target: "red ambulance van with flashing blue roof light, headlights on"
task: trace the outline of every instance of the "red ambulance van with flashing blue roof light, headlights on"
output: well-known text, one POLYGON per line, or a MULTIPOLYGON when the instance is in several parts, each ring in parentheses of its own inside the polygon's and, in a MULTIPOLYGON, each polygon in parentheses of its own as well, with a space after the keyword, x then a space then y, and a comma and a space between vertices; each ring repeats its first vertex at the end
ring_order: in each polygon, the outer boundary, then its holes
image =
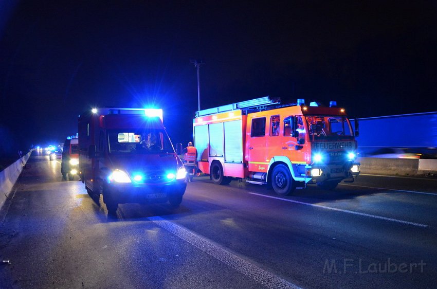
POLYGON ((109 213, 121 203, 178 206, 186 170, 162 124, 162 110, 93 109, 79 116, 79 170, 109 213))

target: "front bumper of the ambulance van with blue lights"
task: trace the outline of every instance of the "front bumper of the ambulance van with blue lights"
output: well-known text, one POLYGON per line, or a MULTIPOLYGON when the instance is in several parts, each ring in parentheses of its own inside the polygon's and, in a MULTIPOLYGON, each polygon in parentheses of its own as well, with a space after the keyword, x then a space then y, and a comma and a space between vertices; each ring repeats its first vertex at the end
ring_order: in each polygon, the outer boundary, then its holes
MULTIPOLYGON (((169 196, 182 196, 187 188, 185 179, 174 180, 166 184, 111 184, 106 194, 119 204, 124 203, 165 203, 169 196)), ((105 195, 105 191, 103 192, 105 195)))

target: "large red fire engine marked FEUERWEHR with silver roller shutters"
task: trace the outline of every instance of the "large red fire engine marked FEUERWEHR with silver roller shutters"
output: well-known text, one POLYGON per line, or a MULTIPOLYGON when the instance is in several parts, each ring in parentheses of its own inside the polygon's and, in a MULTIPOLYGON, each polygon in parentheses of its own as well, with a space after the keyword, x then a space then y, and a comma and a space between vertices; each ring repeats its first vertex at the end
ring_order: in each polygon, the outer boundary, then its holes
POLYGON ((358 125, 354 133, 345 110, 335 106, 263 97, 198 111, 198 167, 216 184, 246 179, 280 195, 307 184, 334 189, 341 180, 353 182, 360 171, 358 125))

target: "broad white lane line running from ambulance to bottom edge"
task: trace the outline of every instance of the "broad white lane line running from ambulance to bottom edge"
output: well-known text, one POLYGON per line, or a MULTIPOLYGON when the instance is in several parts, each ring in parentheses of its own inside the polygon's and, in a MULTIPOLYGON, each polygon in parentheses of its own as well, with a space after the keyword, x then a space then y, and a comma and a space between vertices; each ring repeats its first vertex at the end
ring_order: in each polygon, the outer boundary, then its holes
POLYGON ((215 259, 225 263, 234 270, 252 278, 258 283, 266 286, 267 288, 293 288, 299 289, 299 287, 293 283, 290 283, 282 278, 279 278, 260 267, 253 265, 250 262, 243 260, 242 258, 235 256, 231 252, 212 244, 210 241, 197 236, 197 234, 190 230, 173 224, 160 216, 152 216, 148 218, 153 223, 166 229, 167 231, 175 234, 180 239, 183 239, 191 245, 201 249, 207 254, 211 255, 215 259))

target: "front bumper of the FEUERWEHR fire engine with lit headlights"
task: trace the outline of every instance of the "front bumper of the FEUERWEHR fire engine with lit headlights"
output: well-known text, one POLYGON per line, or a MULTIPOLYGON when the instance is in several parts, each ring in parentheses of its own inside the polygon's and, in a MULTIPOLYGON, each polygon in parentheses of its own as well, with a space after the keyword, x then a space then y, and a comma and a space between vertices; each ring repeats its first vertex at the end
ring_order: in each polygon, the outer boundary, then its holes
POLYGON ((320 183, 325 180, 354 179, 360 173, 359 162, 348 162, 345 165, 315 165, 307 169, 306 174, 311 175, 310 183, 320 183))

